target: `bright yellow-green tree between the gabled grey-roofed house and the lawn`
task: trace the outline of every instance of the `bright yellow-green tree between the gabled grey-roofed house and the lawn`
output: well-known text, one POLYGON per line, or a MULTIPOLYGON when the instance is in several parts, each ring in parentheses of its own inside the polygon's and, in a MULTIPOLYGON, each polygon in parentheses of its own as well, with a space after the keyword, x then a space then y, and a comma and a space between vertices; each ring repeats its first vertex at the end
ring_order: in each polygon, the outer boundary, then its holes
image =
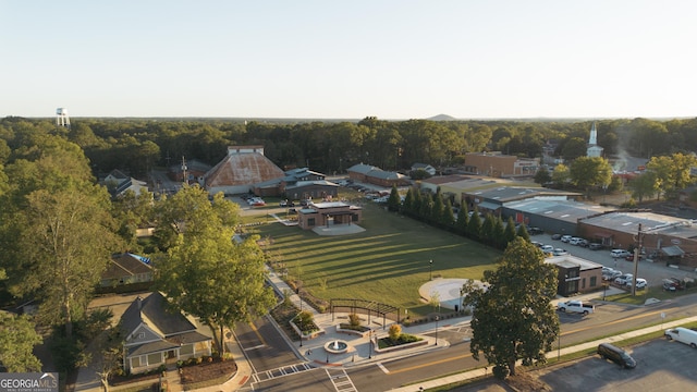
POLYGON ((235 207, 221 194, 211 204, 204 189, 185 186, 159 208, 161 224, 178 229, 167 256, 156 261, 158 286, 178 309, 219 326, 221 340, 224 327, 273 304, 258 236, 233 242, 235 207))

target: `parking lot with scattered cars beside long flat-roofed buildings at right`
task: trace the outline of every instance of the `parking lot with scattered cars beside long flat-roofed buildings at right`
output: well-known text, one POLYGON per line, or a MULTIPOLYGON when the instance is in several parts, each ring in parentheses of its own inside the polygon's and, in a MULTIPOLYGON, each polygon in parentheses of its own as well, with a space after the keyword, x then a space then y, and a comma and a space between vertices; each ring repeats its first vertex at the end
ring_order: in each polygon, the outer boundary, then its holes
MULTIPOLYGON (((586 260, 590 260, 597 264, 600 264, 606 267, 614 268, 622 272, 633 273, 634 271, 634 262, 627 261, 624 258, 613 258, 610 254, 610 249, 598 249, 592 250, 587 247, 570 245, 568 243, 563 243, 560 240, 552 240, 550 234, 538 234, 530 235, 530 241, 537 241, 541 244, 548 244, 553 246, 554 248, 562 248, 568 252, 573 256, 577 256, 584 258, 586 260)), ((685 271, 675 268, 667 267, 663 262, 650 262, 647 260, 640 260, 638 266, 638 278, 644 278, 648 281, 648 294, 651 291, 660 291, 662 290, 662 281, 668 278, 692 278, 695 279, 697 275, 694 271, 685 271)), ((639 290, 639 292, 645 292, 644 290, 639 290)))

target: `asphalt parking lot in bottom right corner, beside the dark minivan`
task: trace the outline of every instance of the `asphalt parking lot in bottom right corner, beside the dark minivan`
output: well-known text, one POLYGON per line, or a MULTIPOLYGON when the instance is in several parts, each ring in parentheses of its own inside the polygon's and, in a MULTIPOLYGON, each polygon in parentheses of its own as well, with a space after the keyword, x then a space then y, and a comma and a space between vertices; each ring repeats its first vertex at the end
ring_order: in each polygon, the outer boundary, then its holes
POLYGON ((697 388, 697 350, 657 339, 624 347, 637 362, 634 369, 598 355, 536 371, 553 391, 692 391, 697 388))

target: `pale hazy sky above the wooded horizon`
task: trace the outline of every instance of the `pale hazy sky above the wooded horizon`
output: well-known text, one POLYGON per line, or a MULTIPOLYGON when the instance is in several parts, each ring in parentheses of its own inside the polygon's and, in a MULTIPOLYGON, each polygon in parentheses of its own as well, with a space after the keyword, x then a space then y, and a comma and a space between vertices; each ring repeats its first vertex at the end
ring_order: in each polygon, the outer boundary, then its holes
POLYGON ((695 117, 696 17, 694 0, 0 0, 0 117, 695 117))

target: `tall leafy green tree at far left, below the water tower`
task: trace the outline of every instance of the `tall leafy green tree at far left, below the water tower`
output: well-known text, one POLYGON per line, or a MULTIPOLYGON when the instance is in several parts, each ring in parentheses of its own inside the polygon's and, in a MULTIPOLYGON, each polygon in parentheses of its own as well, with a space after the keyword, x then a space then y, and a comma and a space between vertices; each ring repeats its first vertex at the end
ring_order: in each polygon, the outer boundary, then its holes
POLYGON ((71 336, 73 320, 83 316, 120 245, 109 195, 94 184, 80 147, 50 135, 33 142, 19 149, 23 159, 8 166, 0 261, 10 291, 37 297, 38 320, 62 324, 71 336))

